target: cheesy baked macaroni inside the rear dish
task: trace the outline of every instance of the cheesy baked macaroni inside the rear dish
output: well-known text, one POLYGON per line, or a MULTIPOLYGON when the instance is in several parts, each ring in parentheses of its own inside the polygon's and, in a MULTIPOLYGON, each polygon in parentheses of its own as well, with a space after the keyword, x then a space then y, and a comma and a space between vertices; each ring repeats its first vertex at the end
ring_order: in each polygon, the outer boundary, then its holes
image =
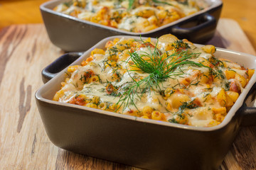
POLYGON ((144 33, 207 7, 203 0, 73 0, 53 10, 104 26, 144 33))

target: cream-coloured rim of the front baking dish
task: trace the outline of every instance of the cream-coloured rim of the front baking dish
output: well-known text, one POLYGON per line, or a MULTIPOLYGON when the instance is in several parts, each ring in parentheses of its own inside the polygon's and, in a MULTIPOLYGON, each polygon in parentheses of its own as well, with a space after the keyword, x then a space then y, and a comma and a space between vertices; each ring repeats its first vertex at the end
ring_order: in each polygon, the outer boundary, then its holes
MULTIPOLYGON (((114 38, 136 38, 136 39, 138 39, 139 37, 129 36, 129 35, 116 35, 116 36, 110 36, 108 38, 104 38, 104 39, 100 40, 100 42, 97 42, 96 45, 93 45, 89 50, 85 51, 83 53, 83 55, 81 55, 77 60, 75 60, 70 65, 80 64, 80 62, 82 62, 81 60, 85 60, 86 57, 90 57, 90 52, 95 47, 105 45, 105 43, 108 40, 114 40, 114 38)), ((145 40, 147 37, 141 37, 141 38, 143 40, 145 40)), ((151 40, 156 40, 156 38, 151 38, 151 40)), ((203 46, 203 45, 199 45, 199 44, 196 44, 196 43, 194 45, 196 45, 197 47, 203 46)), ((228 54, 231 54, 231 55, 234 55, 234 56, 247 57, 247 59, 250 59, 250 61, 253 60, 253 62, 255 64, 255 67, 251 68, 251 69, 256 69, 256 56, 254 56, 254 55, 246 54, 244 52, 237 52, 237 51, 234 51, 234 50, 227 50, 227 49, 220 48, 220 47, 216 47, 216 52, 220 52, 220 54, 228 53, 228 54)), ((235 57, 231 57, 231 58, 235 59, 235 57)), ((243 59, 241 59, 241 60, 243 60, 243 59)), ((256 82, 256 72, 255 72, 255 74, 252 75, 248 84, 245 86, 245 89, 243 89, 242 93, 238 97, 238 100, 235 101, 235 104, 232 106, 230 111, 228 111, 228 113, 225 116, 225 119, 223 120, 222 123, 220 123, 219 125, 215 125, 213 127, 196 127, 196 126, 192 126, 192 125, 181 125, 181 124, 177 124, 177 123, 169 123, 169 122, 164 122, 164 121, 161 121, 161 120, 151 120, 151 119, 138 118, 138 117, 132 116, 132 115, 123 115, 123 114, 114 113, 114 112, 110 112, 110 111, 102 111, 102 110, 97 109, 97 108, 89 108, 89 107, 86 107, 86 106, 79 106, 79 105, 74 105, 74 104, 71 104, 71 103, 62 103, 62 102, 59 102, 59 101, 52 101, 50 99, 43 98, 43 95, 42 95, 43 91, 44 91, 44 89, 47 90, 48 87, 51 87, 50 84, 54 84, 54 86, 59 86, 59 84, 56 84, 57 82, 55 82, 55 81, 57 81, 57 80, 55 80, 55 79, 60 79, 60 77, 63 77, 63 75, 65 74, 66 69, 68 67, 65 67, 65 69, 63 69, 61 72, 59 72, 55 77, 53 77, 53 79, 50 79, 50 81, 48 81, 46 84, 43 84, 43 86, 41 86, 36 91, 35 97, 38 101, 43 101, 45 103, 54 104, 54 105, 58 105, 58 106, 65 106, 65 107, 69 107, 69 108, 78 108, 78 109, 82 109, 84 111, 92 111, 92 112, 95 112, 95 113, 102 113, 102 114, 105 114, 105 115, 115 116, 117 118, 125 118, 125 119, 129 119, 129 120, 135 120, 135 121, 139 121, 139 122, 142 122, 142 123, 151 123, 151 124, 156 124, 156 125, 164 125, 164 126, 168 126, 168 127, 171 127, 171 128, 181 128, 181 129, 185 129, 185 130, 196 130, 196 131, 219 130, 219 129, 225 127, 225 125, 228 125, 228 123, 230 123, 230 120, 233 118, 233 116, 235 116, 235 113, 237 113, 237 111, 242 106, 242 104, 245 103, 245 98, 246 98, 247 94, 249 93, 250 89, 252 89, 252 86, 256 82)))

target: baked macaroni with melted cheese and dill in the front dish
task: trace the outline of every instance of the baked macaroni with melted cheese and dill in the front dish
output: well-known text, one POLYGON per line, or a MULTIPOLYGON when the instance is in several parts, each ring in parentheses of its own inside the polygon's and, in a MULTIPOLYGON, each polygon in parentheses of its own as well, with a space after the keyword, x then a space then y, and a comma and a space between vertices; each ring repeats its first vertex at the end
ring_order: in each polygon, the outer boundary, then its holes
POLYGON ((200 127, 218 125, 254 74, 254 69, 214 56, 174 35, 115 38, 92 50, 53 97, 140 118, 200 127))

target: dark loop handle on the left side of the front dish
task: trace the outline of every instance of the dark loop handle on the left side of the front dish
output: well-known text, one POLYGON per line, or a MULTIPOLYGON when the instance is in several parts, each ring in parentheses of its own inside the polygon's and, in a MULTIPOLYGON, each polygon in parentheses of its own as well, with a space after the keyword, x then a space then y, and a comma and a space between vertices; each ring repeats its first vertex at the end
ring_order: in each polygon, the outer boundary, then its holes
POLYGON ((60 71, 68 67, 71 63, 75 62, 83 52, 68 52, 65 55, 58 57, 55 61, 50 63, 41 72, 43 83, 46 84, 50 79, 55 77, 60 71))

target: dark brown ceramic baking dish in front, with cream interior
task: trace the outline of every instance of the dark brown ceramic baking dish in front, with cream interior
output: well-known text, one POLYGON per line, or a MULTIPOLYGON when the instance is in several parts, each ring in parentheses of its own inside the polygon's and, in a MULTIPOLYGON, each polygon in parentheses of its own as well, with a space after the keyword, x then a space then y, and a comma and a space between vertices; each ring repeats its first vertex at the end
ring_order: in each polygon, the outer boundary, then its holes
MULTIPOLYGON (((247 125, 255 123, 256 110, 247 104, 252 101, 249 94, 255 92, 255 74, 223 123, 211 128, 136 118, 52 101, 60 89, 60 82, 65 79, 67 68, 63 69, 63 65, 68 66, 77 57, 71 65, 80 64, 95 47, 104 48, 108 40, 122 37, 105 38, 83 54, 63 55, 43 69, 45 82, 49 77, 53 78, 36 92, 36 103, 50 141, 71 152, 143 169, 218 169, 241 122, 247 125)), ((255 56, 241 52, 218 48, 215 57, 233 60, 251 69, 256 66, 255 56)))

